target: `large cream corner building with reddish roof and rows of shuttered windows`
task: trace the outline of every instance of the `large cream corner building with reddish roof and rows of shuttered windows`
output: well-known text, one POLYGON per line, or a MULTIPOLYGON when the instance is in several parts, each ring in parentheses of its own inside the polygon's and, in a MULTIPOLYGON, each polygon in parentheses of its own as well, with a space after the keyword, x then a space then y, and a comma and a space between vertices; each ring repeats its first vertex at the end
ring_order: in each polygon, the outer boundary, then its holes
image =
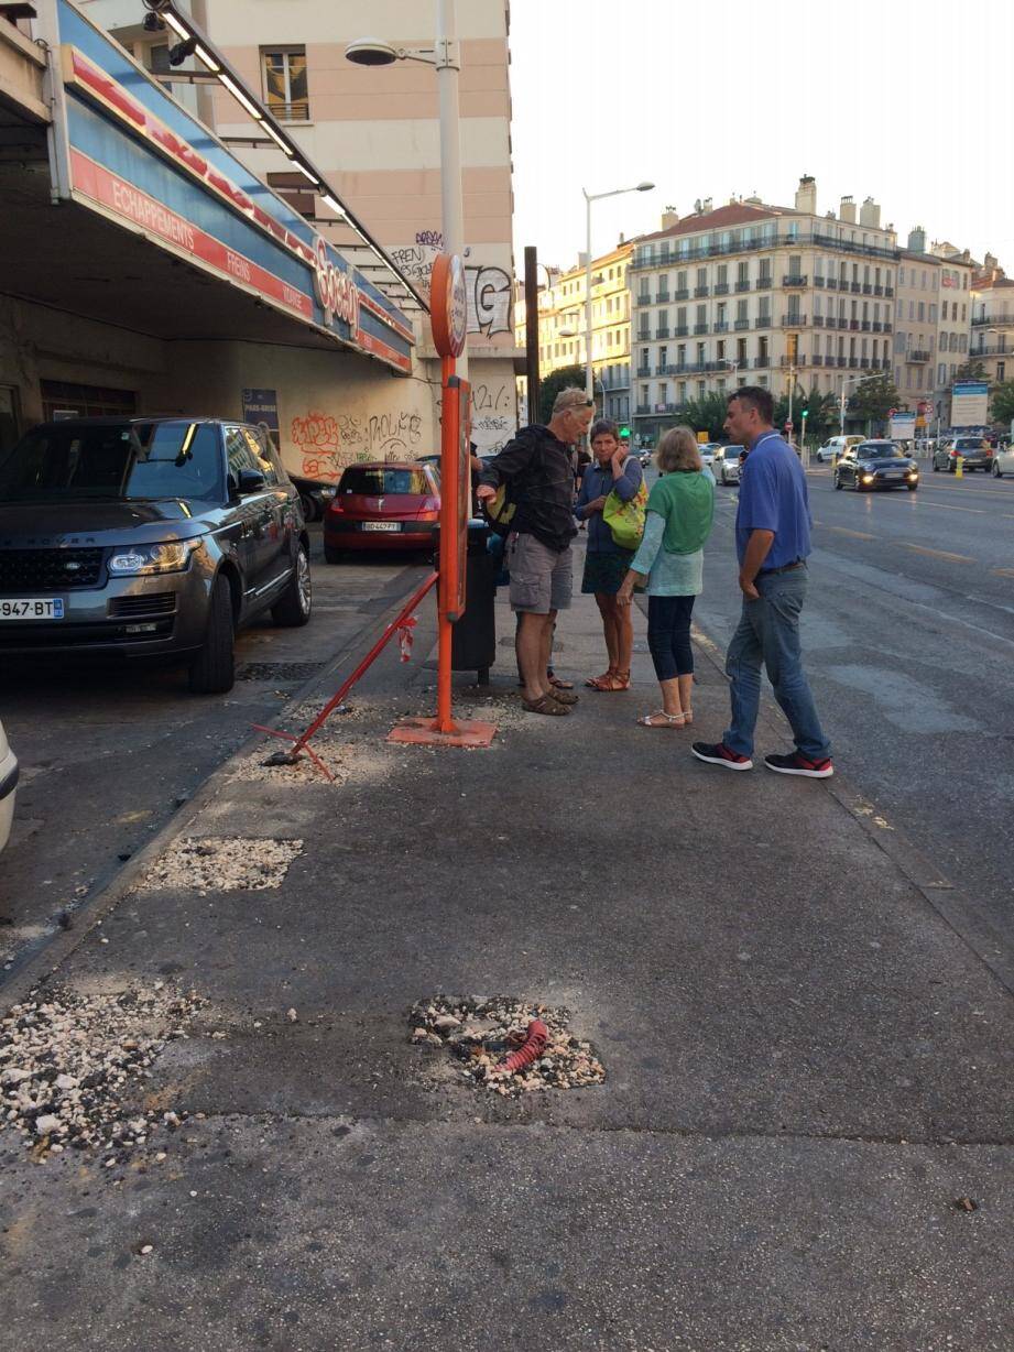
POLYGON ((898 242, 880 207, 818 215, 803 177, 794 207, 757 197, 635 241, 630 262, 635 431, 654 441, 688 399, 737 384, 840 393, 892 369, 898 242))

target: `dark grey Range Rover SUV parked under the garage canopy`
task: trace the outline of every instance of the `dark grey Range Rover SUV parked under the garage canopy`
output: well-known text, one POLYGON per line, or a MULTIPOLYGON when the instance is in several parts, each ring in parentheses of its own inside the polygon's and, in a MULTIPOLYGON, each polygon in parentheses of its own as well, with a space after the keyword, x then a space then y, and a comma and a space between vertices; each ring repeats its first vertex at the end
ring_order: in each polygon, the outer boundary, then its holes
POLYGON ((0 654, 170 657, 233 687, 235 630, 306 625, 299 495, 261 429, 42 423, 0 454, 0 654))

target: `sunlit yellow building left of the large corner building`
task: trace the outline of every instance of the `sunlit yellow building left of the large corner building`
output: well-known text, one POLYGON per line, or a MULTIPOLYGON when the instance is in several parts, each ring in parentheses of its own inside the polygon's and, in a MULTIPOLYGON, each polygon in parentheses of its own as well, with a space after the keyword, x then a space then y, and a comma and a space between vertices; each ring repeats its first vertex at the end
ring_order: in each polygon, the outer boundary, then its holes
MULTIPOLYGON (((627 268, 633 243, 621 242, 592 261, 592 369, 595 397, 606 418, 630 418, 630 291, 627 268)), ((549 273, 550 285, 538 292, 538 364, 548 376, 564 366, 587 365, 585 266, 549 273)), ((519 295, 515 311, 516 345, 525 346, 526 307, 519 295)), ((534 418, 534 411, 531 414, 534 418)))

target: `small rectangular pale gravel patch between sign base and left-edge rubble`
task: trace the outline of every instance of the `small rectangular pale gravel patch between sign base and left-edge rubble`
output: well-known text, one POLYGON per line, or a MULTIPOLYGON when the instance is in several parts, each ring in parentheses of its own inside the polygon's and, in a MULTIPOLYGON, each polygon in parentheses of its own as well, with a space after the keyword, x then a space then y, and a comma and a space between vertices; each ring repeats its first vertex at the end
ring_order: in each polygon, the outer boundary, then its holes
POLYGON ((276 841, 243 836, 187 836, 173 841, 137 886, 139 892, 162 887, 210 891, 261 892, 281 887, 303 841, 276 841))

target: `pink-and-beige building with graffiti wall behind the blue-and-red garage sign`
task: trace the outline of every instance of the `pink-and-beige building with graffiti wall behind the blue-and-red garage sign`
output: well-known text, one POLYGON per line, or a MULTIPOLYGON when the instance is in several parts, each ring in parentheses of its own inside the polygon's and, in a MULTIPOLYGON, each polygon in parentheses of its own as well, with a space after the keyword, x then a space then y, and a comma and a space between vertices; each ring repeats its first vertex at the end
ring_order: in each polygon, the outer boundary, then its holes
MULTIPOLYGON (((218 82, 196 84, 200 66, 170 66, 172 32, 142 27, 139 0, 91 0, 85 8, 149 70, 189 104, 249 168, 314 223, 357 268, 380 280, 369 251, 341 223, 304 177, 218 82), (196 76, 193 74, 196 72, 196 76)), ((192 0, 195 22, 208 34, 285 132, 323 173, 420 289, 429 287, 442 247, 437 77, 431 66, 396 61, 362 68, 346 46, 375 38, 395 47, 433 47, 434 7, 416 0, 192 0)), ((469 375, 473 435, 481 449, 503 443, 516 426, 512 315, 512 192, 510 146, 510 5, 507 0, 457 4, 461 45, 461 164, 466 241, 469 375)), ((392 380, 384 407, 369 406, 347 383, 300 389, 283 400, 287 427, 323 419, 346 429, 330 454, 330 476, 364 452, 383 450, 365 437, 370 419, 412 429, 402 448, 426 454, 438 441, 439 362, 425 316, 415 312, 412 375, 392 380)), ((280 400, 283 396, 280 395, 280 400)), ((379 423, 373 423, 377 426, 379 423)), ((322 457, 315 456, 322 462, 322 457)))

